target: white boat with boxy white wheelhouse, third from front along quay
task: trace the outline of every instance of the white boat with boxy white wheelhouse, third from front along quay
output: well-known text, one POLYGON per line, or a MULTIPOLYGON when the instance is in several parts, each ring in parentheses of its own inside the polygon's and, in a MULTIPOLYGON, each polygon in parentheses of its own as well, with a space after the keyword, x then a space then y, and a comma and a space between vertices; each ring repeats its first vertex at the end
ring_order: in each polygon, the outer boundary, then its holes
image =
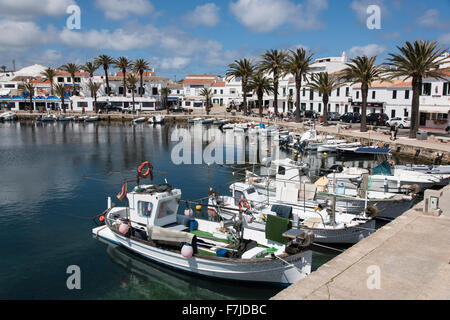
MULTIPOLYGON (((339 169, 336 172, 341 171, 342 167, 339 169)), ((255 187, 272 203, 286 202, 311 212, 318 203, 323 204, 335 197, 336 210, 342 213, 359 214, 368 206, 376 206, 378 216, 388 219, 396 218, 408 210, 417 194, 415 187, 405 187, 403 193, 369 191, 368 186, 362 183, 362 177, 353 188, 337 183, 333 180, 334 175, 312 183, 308 172, 306 164, 280 159, 272 161, 267 176, 247 171, 245 183, 255 187), (275 175, 271 176, 273 172, 275 175)))

